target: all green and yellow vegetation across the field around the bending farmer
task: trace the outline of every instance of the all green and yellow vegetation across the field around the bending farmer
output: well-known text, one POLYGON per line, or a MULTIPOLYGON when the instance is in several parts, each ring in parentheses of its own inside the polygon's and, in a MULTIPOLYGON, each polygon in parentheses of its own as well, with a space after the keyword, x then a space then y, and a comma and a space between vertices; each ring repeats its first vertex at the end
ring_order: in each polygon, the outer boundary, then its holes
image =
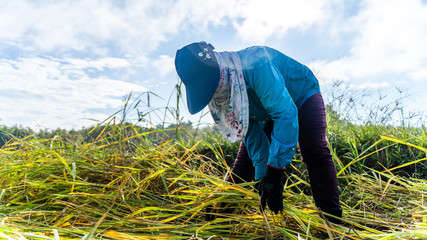
POLYGON ((173 123, 150 124, 146 102, 129 97, 93 128, 1 127, 0 238, 427 239, 426 126, 391 122, 402 99, 354 119, 345 114, 365 103, 334 93, 328 139, 343 224, 315 207, 299 154, 286 171, 284 211, 262 214, 254 182, 224 181, 238 144, 181 122, 179 107, 164 110, 173 123), (224 203, 235 210, 216 211, 224 203))

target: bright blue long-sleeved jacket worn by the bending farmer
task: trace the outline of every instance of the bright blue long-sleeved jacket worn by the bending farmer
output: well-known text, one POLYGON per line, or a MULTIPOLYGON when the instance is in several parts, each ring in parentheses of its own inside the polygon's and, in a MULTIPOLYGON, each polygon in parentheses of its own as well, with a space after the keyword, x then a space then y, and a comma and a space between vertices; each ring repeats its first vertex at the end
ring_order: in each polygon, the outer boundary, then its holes
POLYGON ((244 139, 255 167, 255 180, 265 176, 267 164, 287 167, 298 142, 298 108, 318 93, 319 83, 305 65, 269 47, 237 52, 249 98, 249 129, 244 139), (271 144, 263 131, 274 121, 271 144))

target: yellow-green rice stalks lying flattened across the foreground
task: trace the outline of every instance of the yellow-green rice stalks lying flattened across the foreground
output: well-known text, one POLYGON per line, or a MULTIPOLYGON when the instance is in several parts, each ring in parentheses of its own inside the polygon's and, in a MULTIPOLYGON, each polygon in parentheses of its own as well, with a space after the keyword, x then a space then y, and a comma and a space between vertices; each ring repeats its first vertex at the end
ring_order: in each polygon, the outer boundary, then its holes
MULTIPOLYGON (((154 144, 158 130, 134 125, 98 130, 90 141, 33 135, 0 148, 0 239, 427 239, 426 179, 394 173, 405 166, 352 170, 384 149, 347 163, 334 152, 343 207, 343 224, 334 224, 316 209, 298 160, 284 211, 262 214, 253 182, 224 181, 230 166, 219 142, 154 144), (216 210, 224 204, 234 211, 216 210)), ((411 147, 427 154, 423 144, 411 147)))

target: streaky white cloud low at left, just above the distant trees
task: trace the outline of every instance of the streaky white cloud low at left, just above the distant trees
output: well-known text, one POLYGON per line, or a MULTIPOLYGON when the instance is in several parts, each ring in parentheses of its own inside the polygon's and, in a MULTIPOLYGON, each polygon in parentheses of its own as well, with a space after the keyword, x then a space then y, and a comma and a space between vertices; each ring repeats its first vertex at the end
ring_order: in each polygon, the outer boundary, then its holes
MULTIPOLYGON (((87 68, 123 68, 120 59, 46 59, 0 60, 0 109, 2 124, 78 128, 88 118, 104 120, 99 113, 121 107, 121 97, 147 89, 105 76, 91 78, 87 68), (10 96, 12 95, 12 96, 10 96), (93 111, 97 110, 97 111, 93 111), (86 119, 86 120, 85 120, 86 119)), ((93 124, 93 122, 92 122, 93 124)))

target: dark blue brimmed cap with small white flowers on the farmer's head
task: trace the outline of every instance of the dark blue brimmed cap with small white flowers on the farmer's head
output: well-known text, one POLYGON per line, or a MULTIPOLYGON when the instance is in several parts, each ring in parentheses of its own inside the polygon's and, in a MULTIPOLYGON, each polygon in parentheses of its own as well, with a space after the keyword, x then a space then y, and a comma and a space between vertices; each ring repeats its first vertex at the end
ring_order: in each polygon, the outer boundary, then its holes
POLYGON ((213 50, 209 43, 196 42, 176 52, 175 68, 185 85, 191 114, 206 107, 218 87, 220 71, 213 50))

